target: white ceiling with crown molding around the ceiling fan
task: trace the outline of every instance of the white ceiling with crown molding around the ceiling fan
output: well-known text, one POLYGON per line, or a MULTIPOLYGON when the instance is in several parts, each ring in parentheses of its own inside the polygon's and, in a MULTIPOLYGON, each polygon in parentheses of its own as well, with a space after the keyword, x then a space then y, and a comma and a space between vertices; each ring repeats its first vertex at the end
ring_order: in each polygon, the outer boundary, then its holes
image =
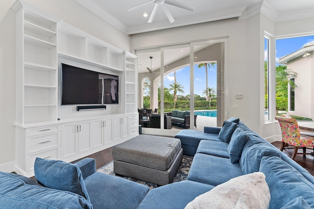
POLYGON ((263 12, 262 7, 266 8, 266 15, 273 21, 314 17, 314 0, 177 0, 195 9, 188 11, 167 4, 175 22, 170 23, 163 10, 159 9, 153 22, 147 23, 155 3, 149 3, 131 11, 127 10, 149 0, 77 1, 127 34, 227 18, 245 18, 254 12, 263 12), (148 16, 143 17, 144 13, 148 16))

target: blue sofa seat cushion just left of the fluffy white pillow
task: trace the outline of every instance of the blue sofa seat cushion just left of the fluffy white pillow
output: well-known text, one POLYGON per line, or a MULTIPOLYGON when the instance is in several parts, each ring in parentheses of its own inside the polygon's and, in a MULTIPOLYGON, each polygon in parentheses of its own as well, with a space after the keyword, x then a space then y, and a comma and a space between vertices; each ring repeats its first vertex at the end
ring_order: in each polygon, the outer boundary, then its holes
POLYGON ((137 209, 183 209, 195 197, 213 187, 188 180, 160 186, 151 189, 137 209))

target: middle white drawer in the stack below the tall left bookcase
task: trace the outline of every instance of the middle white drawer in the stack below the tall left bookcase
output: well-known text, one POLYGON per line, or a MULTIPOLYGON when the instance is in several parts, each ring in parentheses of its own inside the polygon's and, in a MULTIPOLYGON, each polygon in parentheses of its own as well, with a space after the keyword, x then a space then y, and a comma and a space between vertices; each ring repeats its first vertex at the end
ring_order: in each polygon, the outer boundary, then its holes
POLYGON ((61 145, 61 132, 26 138, 26 155, 61 145))

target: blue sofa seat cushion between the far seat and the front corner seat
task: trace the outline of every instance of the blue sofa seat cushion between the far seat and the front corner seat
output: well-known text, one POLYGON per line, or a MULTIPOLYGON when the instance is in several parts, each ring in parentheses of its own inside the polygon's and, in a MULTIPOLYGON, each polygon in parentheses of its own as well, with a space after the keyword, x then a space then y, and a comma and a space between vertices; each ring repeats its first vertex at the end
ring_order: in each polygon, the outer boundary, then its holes
POLYGON ((217 186, 242 175, 239 163, 232 164, 228 158, 196 153, 187 180, 217 186))

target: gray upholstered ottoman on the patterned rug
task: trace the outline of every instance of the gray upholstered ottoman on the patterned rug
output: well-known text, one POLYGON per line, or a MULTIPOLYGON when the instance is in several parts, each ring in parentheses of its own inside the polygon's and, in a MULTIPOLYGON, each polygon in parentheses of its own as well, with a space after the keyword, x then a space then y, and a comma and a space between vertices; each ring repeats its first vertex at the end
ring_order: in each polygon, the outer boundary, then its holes
POLYGON ((113 171, 157 184, 170 184, 183 157, 180 139, 139 135, 112 149, 113 171))

